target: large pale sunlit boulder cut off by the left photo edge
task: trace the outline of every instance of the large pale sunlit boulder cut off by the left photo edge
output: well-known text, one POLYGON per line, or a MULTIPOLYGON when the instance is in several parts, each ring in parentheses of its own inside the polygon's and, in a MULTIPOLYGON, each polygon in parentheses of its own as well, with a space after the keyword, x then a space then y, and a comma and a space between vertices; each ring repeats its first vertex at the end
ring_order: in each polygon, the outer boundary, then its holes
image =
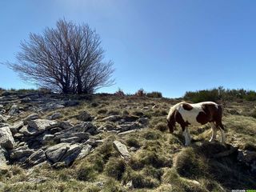
POLYGON ((10 128, 8 126, 4 126, 0 128, 0 146, 5 148, 6 150, 14 149, 16 143, 14 142, 14 137, 10 132, 10 128))

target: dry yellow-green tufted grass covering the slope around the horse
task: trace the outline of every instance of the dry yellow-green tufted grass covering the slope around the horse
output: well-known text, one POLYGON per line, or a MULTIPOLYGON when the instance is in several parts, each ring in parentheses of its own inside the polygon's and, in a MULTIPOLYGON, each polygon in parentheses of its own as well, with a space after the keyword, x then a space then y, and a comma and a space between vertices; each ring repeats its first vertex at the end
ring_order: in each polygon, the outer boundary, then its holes
MULTIPOLYGON (((0 174, 0 181, 6 183, 4 191, 226 191, 231 189, 255 189, 255 178, 239 166, 235 157, 212 158, 224 146, 218 142, 210 144, 209 126, 190 127, 195 139, 190 147, 182 143, 181 129, 175 134, 166 130, 166 113, 174 100, 154 98, 115 98, 114 96, 94 96, 81 106, 60 111, 62 120, 76 122, 74 115, 86 110, 98 119, 97 126, 104 125, 99 120, 109 114, 146 115, 150 123, 146 129, 118 136, 98 134, 105 139, 86 158, 74 162, 70 168, 54 170, 42 165, 31 170, 11 166, 6 174, 0 174), (154 109, 152 106, 156 105, 154 109), (143 107, 150 110, 143 110, 143 107), (143 114, 142 114, 142 113, 143 114), (114 150, 112 142, 118 139, 130 150, 132 158, 126 162, 114 150), (34 180, 33 180, 33 179, 34 180), (35 183, 34 181, 42 180, 35 183), (126 183, 132 181, 134 189, 126 183), (104 187, 101 188, 101 182, 104 187)), ((243 115, 225 113, 227 142, 245 148, 256 143, 256 119, 251 118, 250 109, 256 103, 229 103, 226 109, 236 110, 243 115)), ((53 114, 51 112, 50 114, 53 114)), ((24 114, 26 115, 26 114, 24 114)), ((46 117, 48 114, 43 114, 46 117)), ((219 139, 219 138, 218 138, 219 139)))

